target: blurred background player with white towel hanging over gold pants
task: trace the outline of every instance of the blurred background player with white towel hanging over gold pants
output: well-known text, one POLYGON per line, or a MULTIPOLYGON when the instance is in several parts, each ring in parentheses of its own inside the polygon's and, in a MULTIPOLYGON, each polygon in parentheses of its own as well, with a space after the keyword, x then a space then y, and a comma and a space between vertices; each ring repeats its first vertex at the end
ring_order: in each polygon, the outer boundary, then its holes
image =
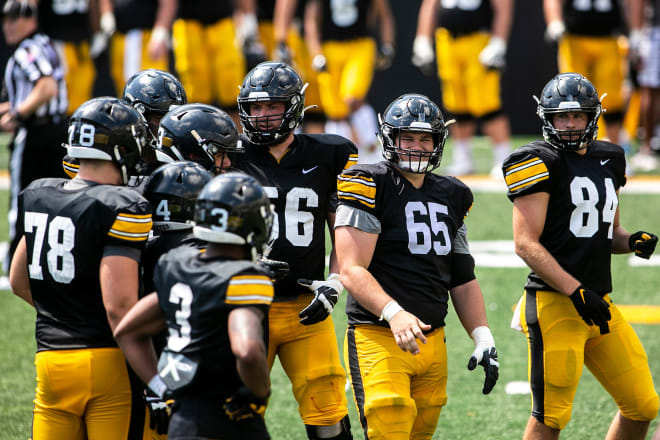
POLYGON ((110 7, 117 22, 110 42, 110 73, 117 93, 140 70, 168 70, 170 28, 177 0, 99 1, 104 8, 112 2, 110 7))

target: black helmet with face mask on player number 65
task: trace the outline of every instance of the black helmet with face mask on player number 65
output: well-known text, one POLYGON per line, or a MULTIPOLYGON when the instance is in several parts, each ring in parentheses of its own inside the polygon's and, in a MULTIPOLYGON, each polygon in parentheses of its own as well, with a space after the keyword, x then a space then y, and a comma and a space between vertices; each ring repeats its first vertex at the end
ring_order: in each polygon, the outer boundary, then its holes
POLYGON ((378 115, 378 139, 383 145, 383 156, 397 168, 415 174, 424 174, 440 166, 447 140, 447 125, 440 108, 424 95, 409 93, 399 96, 378 115), (403 132, 429 133, 433 149, 422 151, 401 145, 403 132))

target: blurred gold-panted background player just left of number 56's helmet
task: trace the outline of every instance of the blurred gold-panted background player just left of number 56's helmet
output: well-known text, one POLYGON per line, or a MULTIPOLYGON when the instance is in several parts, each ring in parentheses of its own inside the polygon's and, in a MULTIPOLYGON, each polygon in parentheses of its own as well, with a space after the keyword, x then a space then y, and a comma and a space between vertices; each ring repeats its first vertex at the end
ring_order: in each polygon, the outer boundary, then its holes
POLYGON ((254 0, 186 0, 172 27, 175 67, 190 102, 216 105, 236 125, 238 86, 248 70, 243 50, 265 59, 255 10, 254 0))

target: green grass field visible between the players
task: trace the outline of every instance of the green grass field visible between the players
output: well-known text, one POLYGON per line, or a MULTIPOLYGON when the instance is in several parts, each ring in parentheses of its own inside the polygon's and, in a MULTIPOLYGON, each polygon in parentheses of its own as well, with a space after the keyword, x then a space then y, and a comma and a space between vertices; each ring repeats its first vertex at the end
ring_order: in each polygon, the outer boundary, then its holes
MULTIPOLYGON (((517 142, 520 145, 521 142, 517 142)), ((487 147, 476 151, 478 171, 489 169, 487 147)), ((448 158, 447 158, 448 159, 448 158)), ((448 161, 448 160, 447 160, 448 161)), ((7 192, 0 191, 0 219, 6 218, 7 192)), ((621 223, 631 231, 660 231, 660 195, 623 194, 621 223)), ((470 241, 511 240, 511 204, 504 194, 475 193, 467 220, 470 241)), ((6 222, 0 221, 0 237, 6 237, 6 222)), ((467 360, 473 343, 450 310, 446 329, 449 358, 449 402, 440 416, 435 439, 520 438, 529 417, 529 395, 507 395, 505 385, 527 379, 527 347, 521 333, 509 328, 513 306, 524 285, 526 269, 477 268, 500 355, 500 380, 493 392, 481 394, 483 373, 469 372, 467 360)), ((420 274, 420 276, 422 276, 420 274)), ((628 256, 613 258, 614 293, 618 304, 660 305, 660 267, 630 267, 628 256)), ((30 435, 34 398, 34 311, 10 292, 0 292, 0 440, 26 440, 30 435)), ((346 318, 343 300, 333 318, 340 347, 346 318)), ((656 389, 660 384, 660 338, 657 325, 634 325, 646 348, 656 389)), ((290 384, 279 364, 272 374, 273 392, 266 422, 273 439, 305 439, 290 384)), ((356 439, 364 438, 350 392, 349 411, 356 439)), ((565 439, 602 439, 616 406, 593 376, 584 371, 575 399, 573 419, 564 430, 565 439)), ((652 425, 655 429, 657 421, 652 425)), ((651 433, 647 436, 651 438, 651 433)))

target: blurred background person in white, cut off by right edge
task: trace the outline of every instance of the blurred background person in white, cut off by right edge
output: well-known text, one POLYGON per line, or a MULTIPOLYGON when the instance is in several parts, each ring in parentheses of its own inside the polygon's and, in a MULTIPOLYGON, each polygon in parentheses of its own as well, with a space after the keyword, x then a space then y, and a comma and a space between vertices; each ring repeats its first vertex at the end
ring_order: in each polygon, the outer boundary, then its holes
MULTIPOLYGON (((639 69, 637 80, 641 94, 641 145, 631 158, 640 171, 658 168, 660 152, 660 1, 630 0, 630 55, 639 69), (655 137, 654 137, 654 131, 655 137), (655 150, 655 151, 654 151, 655 150)), ((656 437, 660 434, 656 433, 656 437)))

